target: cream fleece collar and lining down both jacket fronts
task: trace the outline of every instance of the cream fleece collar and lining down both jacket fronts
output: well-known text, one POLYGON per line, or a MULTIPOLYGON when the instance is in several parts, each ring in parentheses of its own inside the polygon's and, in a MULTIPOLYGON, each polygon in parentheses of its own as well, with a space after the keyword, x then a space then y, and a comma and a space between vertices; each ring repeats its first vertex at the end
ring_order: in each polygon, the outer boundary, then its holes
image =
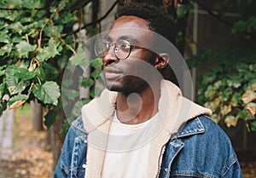
MULTIPOLYGON (((150 141, 150 158, 147 177, 158 177, 165 144, 171 135, 182 129, 189 119, 212 112, 184 98, 180 89, 167 80, 162 80, 159 101, 160 119, 155 135, 150 141)), ((87 148, 86 178, 100 178, 108 141, 108 131, 115 110, 116 92, 103 90, 102 95, 82 108, 84 129, 89 133, 87 148)))

